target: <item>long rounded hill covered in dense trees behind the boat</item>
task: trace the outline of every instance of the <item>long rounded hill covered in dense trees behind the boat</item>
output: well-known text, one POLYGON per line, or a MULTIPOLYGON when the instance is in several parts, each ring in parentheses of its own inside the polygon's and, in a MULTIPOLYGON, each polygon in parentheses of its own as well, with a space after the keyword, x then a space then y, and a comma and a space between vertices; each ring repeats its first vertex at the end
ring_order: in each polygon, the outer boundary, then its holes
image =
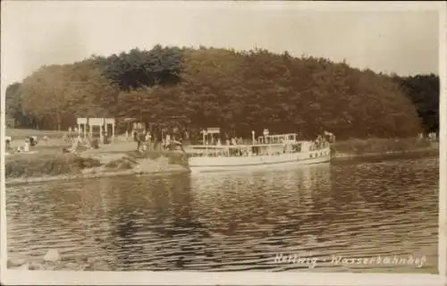
POLYGON ((155 46, 50 65, 6 92, 10 124, 64 129, 76 117, 138 117, 240 136, 324 130, 338 139, 416 136, 438 128, 436 76, 399 78, 314 57, 155 46), (172 120, 171 120, 172 121, 172 120))

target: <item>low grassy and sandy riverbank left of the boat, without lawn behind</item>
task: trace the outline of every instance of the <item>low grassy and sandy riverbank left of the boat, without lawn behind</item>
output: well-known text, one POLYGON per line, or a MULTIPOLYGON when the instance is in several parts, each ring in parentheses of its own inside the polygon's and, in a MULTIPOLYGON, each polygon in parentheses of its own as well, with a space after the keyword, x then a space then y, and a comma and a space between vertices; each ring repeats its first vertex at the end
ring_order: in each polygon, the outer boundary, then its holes
POLYGON ((187 171, 186 155, 175 152, 86 152, 81 155, 46 150, 6 157, 7 183, 71 180, 113 175, 187 171))

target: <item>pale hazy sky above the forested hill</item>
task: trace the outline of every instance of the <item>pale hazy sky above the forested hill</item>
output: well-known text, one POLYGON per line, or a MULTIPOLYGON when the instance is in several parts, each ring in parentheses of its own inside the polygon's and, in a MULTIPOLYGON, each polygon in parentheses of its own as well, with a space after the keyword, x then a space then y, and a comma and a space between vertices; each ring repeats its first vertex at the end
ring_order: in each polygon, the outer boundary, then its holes
POLYGON ((438 73, 438 13, 420 5, 6 0, 2 94, 42 65, 156 44, 260 47, 377 72, 438 73))

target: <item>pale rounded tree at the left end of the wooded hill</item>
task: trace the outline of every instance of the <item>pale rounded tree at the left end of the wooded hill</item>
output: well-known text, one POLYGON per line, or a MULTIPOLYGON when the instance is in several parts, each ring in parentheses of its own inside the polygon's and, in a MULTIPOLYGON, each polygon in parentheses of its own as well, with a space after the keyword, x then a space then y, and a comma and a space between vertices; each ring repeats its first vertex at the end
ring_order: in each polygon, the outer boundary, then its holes
POLYGON ((76 117, 113 114, 118 90, 92 61, 44 66, 22 83, 23 109, 40 125, 61 130, 76 117))

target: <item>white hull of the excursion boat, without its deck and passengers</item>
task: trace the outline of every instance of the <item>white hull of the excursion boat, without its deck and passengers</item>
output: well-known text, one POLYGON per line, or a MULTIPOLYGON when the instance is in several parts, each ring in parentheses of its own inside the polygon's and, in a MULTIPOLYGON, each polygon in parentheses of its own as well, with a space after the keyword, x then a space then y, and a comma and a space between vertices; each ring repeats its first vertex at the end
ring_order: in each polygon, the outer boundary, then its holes
POLYGON ((190 157, 191 172, 242 171, 268 169, 299 164, 321 164, 331 161, 329 147, 316 151, 286 153, 271 156, 203 156, 190 157))

